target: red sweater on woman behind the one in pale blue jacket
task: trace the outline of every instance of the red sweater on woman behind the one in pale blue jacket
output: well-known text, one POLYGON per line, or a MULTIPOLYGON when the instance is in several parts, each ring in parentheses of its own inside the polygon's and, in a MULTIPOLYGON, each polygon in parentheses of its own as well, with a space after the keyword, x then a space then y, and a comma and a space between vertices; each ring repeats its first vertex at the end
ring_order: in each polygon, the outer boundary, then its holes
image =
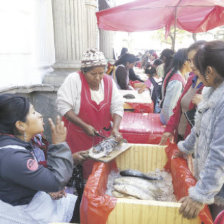
MULTIPOLYGON (((188 80, 187 80, 187 83, 184 87, 184 90, 179 98, 179 100, 177 101, 177 104, 176 104, 176 107, 173 109, 173 115, 170 117, 169 121, 167 122, 167 125, 166 125, 166 128, 165 128, 165 131, 164 132, 170 132, 174 135, 175 137, 175 141, 177 141, 177 129, 178 129, 178 125, 179 125, 179 122, 180 122, 180 117, 181 117, 181 114, 182 114, 182 110, 181 110, 181 100, 183 98, 183 96, 186 94, 186 92, 190 89, 190 87, 192 86, 192 80, 194 79, 195 75, 191 75, 188 80)), ((201 90, 203 89, 203 85, 198 88, 197 92, 196 93, 201 93, 201 90)), ((195 108, 196 105, 192 103, 190 103, 189 105, 189 110, 195 108)), ((184 134, 184 139, 190 134, 191 132, 191 126, 190 124, 188 123, 187 124, 187 127, 186 127, 186 130, 185 130, 185 134, 184 134)))

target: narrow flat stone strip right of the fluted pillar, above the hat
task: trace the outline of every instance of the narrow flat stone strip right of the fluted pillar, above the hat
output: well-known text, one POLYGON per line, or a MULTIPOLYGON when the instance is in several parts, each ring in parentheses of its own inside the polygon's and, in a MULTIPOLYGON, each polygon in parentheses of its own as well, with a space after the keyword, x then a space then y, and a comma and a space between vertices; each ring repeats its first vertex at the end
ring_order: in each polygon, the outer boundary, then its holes
POLYGON ((86 34, 87 34, 87 48, 97 48, 97 20, 96 20, 96 10, 97 1, 96 0, 85 0, 86 7, 86 34))

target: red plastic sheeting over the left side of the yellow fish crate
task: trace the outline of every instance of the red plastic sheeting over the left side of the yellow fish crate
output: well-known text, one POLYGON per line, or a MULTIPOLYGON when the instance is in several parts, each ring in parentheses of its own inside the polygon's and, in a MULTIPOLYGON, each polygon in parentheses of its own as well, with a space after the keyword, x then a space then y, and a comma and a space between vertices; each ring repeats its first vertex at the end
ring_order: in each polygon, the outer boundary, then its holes
POLYGON ((80 219, 82 224, 105 224, 117 199, 105 194, 107 178, 111 169, 117 169, 114 162, 94 164, 82 196, 80 219))

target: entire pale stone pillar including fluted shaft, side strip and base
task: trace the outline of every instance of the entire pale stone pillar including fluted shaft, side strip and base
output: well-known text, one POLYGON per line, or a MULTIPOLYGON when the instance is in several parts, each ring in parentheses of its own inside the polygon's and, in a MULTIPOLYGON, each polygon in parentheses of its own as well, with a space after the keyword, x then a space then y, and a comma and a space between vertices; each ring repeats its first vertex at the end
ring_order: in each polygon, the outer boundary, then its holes
POLYGON ((43 83, 61 85, 80 68, 83 52, 97 47, 96 0, 52 0, 55 64, 43 83))

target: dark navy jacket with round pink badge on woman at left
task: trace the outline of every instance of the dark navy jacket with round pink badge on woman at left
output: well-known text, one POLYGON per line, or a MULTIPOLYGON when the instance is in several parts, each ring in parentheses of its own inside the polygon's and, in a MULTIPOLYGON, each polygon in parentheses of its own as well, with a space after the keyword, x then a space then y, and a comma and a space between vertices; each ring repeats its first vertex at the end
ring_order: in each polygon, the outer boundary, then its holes
POLYGON ((72 175, 69 147, 51 145, 48 167, 39 165, 30 143, 0 135, 0 200, 11 205, 28 204, 37 191, 61 190, 72 175))

